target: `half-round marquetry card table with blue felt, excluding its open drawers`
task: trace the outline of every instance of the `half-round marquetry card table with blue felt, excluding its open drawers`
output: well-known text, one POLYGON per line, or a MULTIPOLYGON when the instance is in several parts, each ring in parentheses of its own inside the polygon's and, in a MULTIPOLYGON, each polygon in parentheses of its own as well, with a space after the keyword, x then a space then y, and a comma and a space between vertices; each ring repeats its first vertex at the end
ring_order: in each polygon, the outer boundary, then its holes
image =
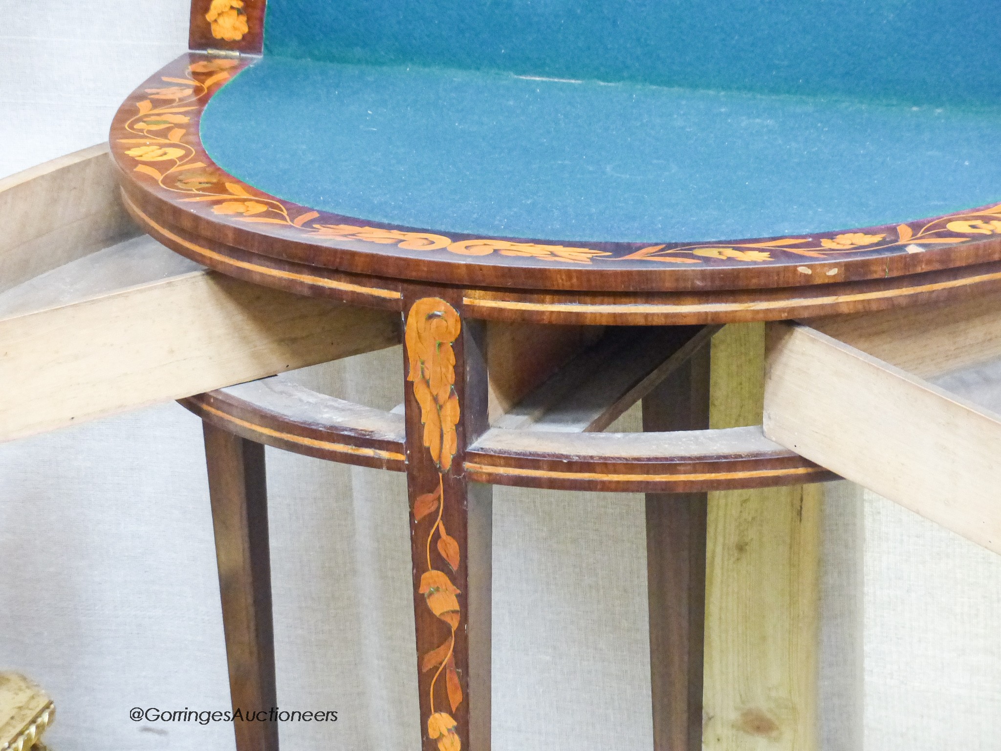
POLYGON ((988 15, 194 0, 191 52, 114 120, 126 207, 224 274, 398 315, 406 383, 402 414, 270 381, 186 402, 234 705, 274 702, 267 444, 406 473, 427 751, 489 746, 488 486, 647 493, 656 744, 702 748, 706 494, 834 477, 709 430, 707 342, 999 286, 988 15), (639 400, 647 432, 603 433, 639 400))

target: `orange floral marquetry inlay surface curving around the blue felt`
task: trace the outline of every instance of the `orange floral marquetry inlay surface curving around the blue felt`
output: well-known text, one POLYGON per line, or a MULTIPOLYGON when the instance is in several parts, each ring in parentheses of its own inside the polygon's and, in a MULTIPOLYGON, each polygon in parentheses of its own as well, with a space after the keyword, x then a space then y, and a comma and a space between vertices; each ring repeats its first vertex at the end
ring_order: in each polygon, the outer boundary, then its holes
MULTIPOLYGON (((212 0, 202 15, 212 24, 213 34, 228 39, 246 33, 242 30, 246 19, 253 17, 247 12, 253 2, 257 0, 212 0)), ((261 9, 262 4, 257 10, 261 9)), ((866 256, 922 252, 1001 234, 1001 205, 864 230, 696 243, 564 243, 372 226, 363 219, 278 199, 214 164, 198 133, 202 108, 252 60, 191 54, 188 61, 176 75, 159 76, 156 84, 147 84, 126 104, 135 109, 123 122, 129 137, 116 139, 118 153, 124 163, 132 162, 136 172, 176 196, 177 202, 202 204, 204 208, 198 206, 196 213, 236 226, 253 224, 262 234, 350 250, 384 252, 392 246, 403 251, 397 254, 411 257, 451 254, 466 262, 482 258, 506 265, 596 269, 760 267, 799 265, 805 259, 848 262, 866 256)))

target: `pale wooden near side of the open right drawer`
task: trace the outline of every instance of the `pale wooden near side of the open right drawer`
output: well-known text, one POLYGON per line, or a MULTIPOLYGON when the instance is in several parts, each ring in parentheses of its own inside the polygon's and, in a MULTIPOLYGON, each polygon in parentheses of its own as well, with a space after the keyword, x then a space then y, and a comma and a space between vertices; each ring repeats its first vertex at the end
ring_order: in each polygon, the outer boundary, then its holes
POLYGON ((807 459, 1001 553, 1001 417, 821 331, 777 323, 764 427, 807 459))

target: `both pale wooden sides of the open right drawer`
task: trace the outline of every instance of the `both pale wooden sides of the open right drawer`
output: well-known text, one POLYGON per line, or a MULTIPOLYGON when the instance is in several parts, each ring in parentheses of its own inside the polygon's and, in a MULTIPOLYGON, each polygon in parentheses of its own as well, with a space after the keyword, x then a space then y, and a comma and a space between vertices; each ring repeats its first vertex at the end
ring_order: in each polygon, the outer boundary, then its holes
POLYGON ((770 324, 766 436, 1001 553, 1001 416, 925 380, 1001 357, 1001 297, 810 323, 770 324))

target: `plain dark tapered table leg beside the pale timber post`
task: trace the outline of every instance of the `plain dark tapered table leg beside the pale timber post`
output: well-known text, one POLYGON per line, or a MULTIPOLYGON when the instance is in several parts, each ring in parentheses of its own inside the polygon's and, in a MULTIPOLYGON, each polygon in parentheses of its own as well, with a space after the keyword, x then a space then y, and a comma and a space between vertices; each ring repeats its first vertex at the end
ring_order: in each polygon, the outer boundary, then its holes
MULTIPOLYGON (((645 431, 709 428, 707 344, 643 401, 645 431)), ((647 494, 647 581, 655 751, 702 750, 705 493, 647 494)))

